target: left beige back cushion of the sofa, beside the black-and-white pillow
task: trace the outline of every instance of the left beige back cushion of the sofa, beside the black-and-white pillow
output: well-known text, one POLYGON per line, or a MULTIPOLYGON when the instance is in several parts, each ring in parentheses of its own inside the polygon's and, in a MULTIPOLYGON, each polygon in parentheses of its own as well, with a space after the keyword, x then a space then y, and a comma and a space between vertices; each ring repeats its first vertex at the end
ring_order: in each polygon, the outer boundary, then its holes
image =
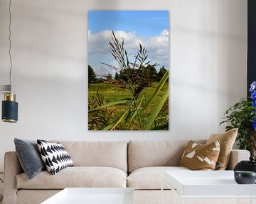
POLYGON ((74 166, 110 166, 127 172, 127 141, 58 141, 74 166))

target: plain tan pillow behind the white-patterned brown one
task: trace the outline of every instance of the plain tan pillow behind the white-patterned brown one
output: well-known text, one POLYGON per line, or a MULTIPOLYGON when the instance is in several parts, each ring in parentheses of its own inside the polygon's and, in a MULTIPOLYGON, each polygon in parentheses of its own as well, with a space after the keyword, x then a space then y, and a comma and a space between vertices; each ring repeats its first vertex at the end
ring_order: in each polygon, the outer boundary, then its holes
POLYGON ((212 134, 206 141, 206 144, 220 141, 220 155, 217 161, 216 170, 225 170, 230 159, 230 152, 238 135, 238 128, 229 130, 221 134, 212 134))

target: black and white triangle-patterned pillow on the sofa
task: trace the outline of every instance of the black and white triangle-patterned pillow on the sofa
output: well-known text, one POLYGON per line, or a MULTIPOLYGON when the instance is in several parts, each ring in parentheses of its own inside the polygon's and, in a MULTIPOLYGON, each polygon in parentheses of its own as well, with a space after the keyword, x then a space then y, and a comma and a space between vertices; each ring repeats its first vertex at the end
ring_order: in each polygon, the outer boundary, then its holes
POLYGON ((38 149, 46 164, 46 169, 52 174, 57 174, 61 169, 74 166, 73 161, 60 143, 53 143, 46 140, 37 140, 38 149))

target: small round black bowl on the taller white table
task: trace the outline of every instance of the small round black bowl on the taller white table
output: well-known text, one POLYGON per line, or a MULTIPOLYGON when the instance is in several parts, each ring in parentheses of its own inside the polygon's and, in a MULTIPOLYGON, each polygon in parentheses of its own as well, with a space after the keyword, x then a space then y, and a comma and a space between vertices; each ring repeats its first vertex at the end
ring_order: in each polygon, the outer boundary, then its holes
POLYGON ((238 184, 255 184, 256 173, 254 171, 235 171, 234 178, 238 184))

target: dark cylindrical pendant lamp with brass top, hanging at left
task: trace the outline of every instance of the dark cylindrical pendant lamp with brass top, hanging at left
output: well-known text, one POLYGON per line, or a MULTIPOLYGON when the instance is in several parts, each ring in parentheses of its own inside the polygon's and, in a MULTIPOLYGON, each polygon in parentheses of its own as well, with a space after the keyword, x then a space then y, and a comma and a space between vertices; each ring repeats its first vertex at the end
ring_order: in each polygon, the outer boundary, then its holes
POLYGON ((18 121, 18 103, 16 95, 13 93, 4 93, 2 101, 2 120, 7 123, 16 123, 18 121))

